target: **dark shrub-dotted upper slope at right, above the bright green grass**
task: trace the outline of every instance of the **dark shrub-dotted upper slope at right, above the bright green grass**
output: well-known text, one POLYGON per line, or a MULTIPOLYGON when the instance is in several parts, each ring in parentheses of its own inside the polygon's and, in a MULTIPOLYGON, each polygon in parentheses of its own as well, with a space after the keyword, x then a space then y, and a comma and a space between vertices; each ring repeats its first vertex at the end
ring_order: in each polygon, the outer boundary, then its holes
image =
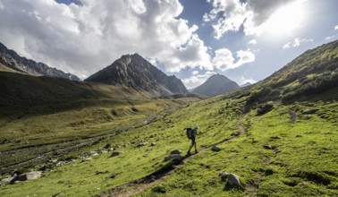
POLYGON ((312 94, 337 87, 338 40, 306 51, 264 81, 237 93, 250 94, 248 105, 268 100, 307 99, 312 94), (249 91, 250 90, 250 91, 249 91))

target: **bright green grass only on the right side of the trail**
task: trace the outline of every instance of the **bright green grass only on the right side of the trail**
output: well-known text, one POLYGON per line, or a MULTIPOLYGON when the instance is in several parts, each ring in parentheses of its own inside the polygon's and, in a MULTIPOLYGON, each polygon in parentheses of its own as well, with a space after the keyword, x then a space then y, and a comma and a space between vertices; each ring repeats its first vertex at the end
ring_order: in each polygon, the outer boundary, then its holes
MULTIPOLYGON (((336 106, 334 102, 321 108, 336 106)), ((257 182, 258 196, 337 195, 337 123, 315 114, 306 120, 300 115, 292 124, 290 107, 279 106, 265 116, 250 113, 248 135, 220 145, 219 152, 201 153, 138 196, 246 196, 254 194, 250 185, 257 182), (265 149, 265 144, 275 150, 265 149), (240 176, 245 189, 225 187, 218 177, 221 171, 240 176), (158 187, 165 193, 156 192, 158 187)))

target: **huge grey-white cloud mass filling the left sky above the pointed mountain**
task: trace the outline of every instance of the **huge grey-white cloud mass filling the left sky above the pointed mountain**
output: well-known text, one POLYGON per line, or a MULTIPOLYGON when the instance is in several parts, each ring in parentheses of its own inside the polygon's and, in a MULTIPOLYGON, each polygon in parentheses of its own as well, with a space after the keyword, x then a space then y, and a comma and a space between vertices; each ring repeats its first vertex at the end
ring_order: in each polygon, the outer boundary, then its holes
POLYGON ((196 25, 179 19, 171 1, 0 1, 0 41, 28 56, 85 78, 124 54, 161 63, 169 72, 212 70, 196 25))

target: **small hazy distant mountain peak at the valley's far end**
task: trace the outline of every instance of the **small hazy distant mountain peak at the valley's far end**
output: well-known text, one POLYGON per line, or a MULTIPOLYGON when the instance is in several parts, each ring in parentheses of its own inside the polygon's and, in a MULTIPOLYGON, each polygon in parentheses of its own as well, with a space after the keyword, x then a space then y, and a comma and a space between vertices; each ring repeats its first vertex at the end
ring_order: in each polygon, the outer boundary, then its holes
POLYGON ((225 92, 237 90, 240 86, 235 82, 229 80, 222 74, 214 74, 207 81, 193 90, 194 93, 206 95, 206 96, 215 96, 219 94, 224 94, 225 92))

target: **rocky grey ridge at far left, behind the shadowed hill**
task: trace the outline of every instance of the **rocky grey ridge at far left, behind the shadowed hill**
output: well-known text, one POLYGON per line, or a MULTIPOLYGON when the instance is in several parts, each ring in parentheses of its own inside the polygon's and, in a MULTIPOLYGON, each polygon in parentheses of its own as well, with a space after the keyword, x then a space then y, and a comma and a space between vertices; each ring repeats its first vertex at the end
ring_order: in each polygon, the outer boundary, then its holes
MULTIPOLYGON (((0 63, 7 66, 6 71, 28 73, 32 75, 43 75, 64 78, 72 81, 80 81, 79 77, 71 73, 63 73, 56 68, 51 68, 46 64, 37 63, 34 60, 19 56, 15 51, 8 49, 0 43, 0 63)), ((2 69, 4 70, 4 69, 2 69)))

